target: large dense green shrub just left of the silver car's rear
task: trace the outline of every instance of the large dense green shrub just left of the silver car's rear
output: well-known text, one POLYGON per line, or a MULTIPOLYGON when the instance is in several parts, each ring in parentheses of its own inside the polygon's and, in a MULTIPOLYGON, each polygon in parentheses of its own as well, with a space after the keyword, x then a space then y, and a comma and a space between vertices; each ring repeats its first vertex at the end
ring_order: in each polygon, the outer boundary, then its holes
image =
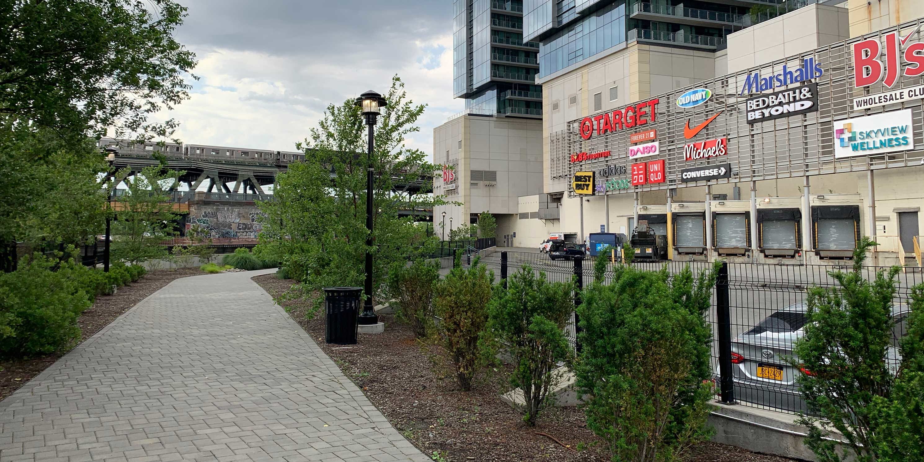
POLYGON ((710 306, 715 272, 695 281, 687 267, 620 265, 609 286, 593 284, 578 307, 582 349, 575 364, 588 428, 614 460, 667 461, 708 436, 712 390, 710 306))

